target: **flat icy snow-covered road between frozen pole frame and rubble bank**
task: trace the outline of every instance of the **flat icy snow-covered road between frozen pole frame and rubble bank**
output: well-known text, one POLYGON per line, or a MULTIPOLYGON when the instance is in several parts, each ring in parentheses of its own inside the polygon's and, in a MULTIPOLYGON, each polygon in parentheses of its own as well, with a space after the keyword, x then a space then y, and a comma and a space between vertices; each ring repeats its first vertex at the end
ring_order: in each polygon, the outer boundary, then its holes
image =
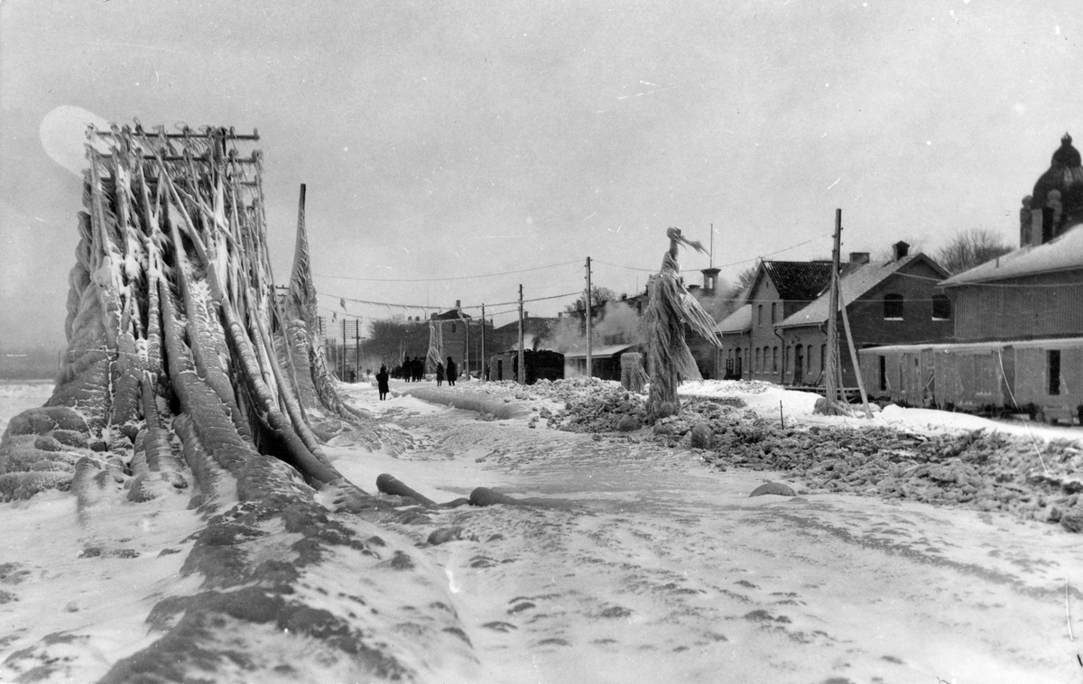
POLYGON ((375 470, 340 452, 336 465, 362 486, 381 470, 438 500, 488 486, 577 504, 397 526, 418 542, 433 525, 462 527, 466 539, 429 554, 485 681, 1083 675, 1066 616, 1066 581, 1083 615, 1083 544, 1056 527, 840 495, 749 499, 783 476, 708 470, 635 433, 598 439, 410 397, 384 404, 416 448, 375 470))

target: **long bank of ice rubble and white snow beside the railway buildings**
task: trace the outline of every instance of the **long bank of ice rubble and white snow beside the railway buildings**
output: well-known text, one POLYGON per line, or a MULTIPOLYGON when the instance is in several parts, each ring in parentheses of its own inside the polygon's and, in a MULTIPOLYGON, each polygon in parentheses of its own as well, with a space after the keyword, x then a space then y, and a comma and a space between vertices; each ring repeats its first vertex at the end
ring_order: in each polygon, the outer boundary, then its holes
POLYGON ((854 417, 817 416, 818 395, 756 381, 684 383, 681 413, 650 429, 644 397, 612 381, 404 386, 418 398, 498 418, 498 409, 513 406, 532 425, 544 420, 554 429, 696 447, 715 468, 786 472, 809 491, 1003 511, 1083 531, 1081 429, 898 406, 874 406, 872 419, 860 407, 854 417))

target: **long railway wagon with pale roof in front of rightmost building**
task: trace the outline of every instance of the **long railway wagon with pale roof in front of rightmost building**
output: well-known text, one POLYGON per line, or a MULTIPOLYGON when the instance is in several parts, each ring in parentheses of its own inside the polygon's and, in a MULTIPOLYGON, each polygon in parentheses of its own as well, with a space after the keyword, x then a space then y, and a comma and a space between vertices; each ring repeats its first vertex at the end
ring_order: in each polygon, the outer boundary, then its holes
POLYGON ((873 398, 1083 422, 1083 338, 861 350, 873 398))

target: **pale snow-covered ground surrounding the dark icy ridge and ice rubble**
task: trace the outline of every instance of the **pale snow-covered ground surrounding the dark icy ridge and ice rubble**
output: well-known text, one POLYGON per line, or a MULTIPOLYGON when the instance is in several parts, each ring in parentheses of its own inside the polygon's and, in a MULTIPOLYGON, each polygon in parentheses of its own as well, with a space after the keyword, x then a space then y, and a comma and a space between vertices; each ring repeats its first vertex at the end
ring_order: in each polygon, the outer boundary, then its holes
MULTIPOLYGON (((50 389, 0 384, 0 425, 40 405, 50 389)), ((510 420, 422 402, 409 389, 392 383, 392 397, 379 402, 370 385, 343 385, 354 405, 397 425, 406 445, 369 452, 347 436, 332 439, 334 464, 358 486, 374 491, 376 476, 391 473, 438 501, 487 486, 570 502, 380 522, 381 536, 415 547, 412 555, 436 578, 425 590, 430 603, 419 603, 416 586, 395 583, 403 582, 396 575, 358 584, 343 568, 321 580, 324 589, 371 592, 389 615, 402 609, 396 602, 434 605, 436 596, 451 605, 475 667, 452 659, 441 669, 439 658, 426 658, 435 665, 418 668, 431 673, 422 681, 1083 681, 1078 535, 1000 513, 872 497, 749 499, 758 484, 785 475, 718 472, 642 433, 567 433, 533 419, 589 393, 586 386, 440 390, 520 404, 521 417, 510 420), (427 545, 439 527, 458 527, 461 538, 427 545)), ((813 417, 814 395, 766 383, 707 381, 681 391, 740 399, 770 418, 781 404, 787 424, 869 422, 813 417)), ((1078 429, 916 409, 889 407, 873 421, 1083 443, 1078 429)), ((19 665, 45 642, 51 657, 70 658, 93 681, 154 640, 145 618, 161 595, 196 590, 195 578, 178 575, 200 525, 184 501, 102 513, 80 517, 58 492, 0 504, 0 597, 9 597, 0 598, 0 682, 38 681, 19 665)), ((384 637, 408 644, 406 627, 389 623, 384 637)), ((410 663, 409 653, 403 657, 410 663)), ((84 680, 41 673, 40 681, 84 680)))

